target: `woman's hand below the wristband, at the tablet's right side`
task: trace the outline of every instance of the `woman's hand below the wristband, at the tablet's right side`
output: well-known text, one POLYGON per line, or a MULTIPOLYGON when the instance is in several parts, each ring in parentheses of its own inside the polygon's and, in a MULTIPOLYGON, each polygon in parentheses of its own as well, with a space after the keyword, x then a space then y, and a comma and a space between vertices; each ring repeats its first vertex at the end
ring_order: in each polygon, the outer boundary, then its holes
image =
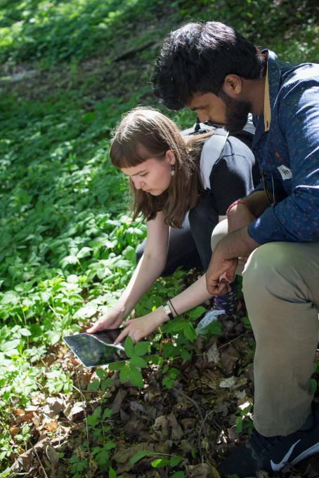
POLYGON ((162 325, 168 319, 162 307, 159 307, 154 312, 138 317, 138 319, 131 319, 124 322, 124 329, 115 340, 115 344, 120 343, 125 337, 129 336, 134 342, 138 342, 141 338, 145 338, 154 332, 157 327, 162 325))

